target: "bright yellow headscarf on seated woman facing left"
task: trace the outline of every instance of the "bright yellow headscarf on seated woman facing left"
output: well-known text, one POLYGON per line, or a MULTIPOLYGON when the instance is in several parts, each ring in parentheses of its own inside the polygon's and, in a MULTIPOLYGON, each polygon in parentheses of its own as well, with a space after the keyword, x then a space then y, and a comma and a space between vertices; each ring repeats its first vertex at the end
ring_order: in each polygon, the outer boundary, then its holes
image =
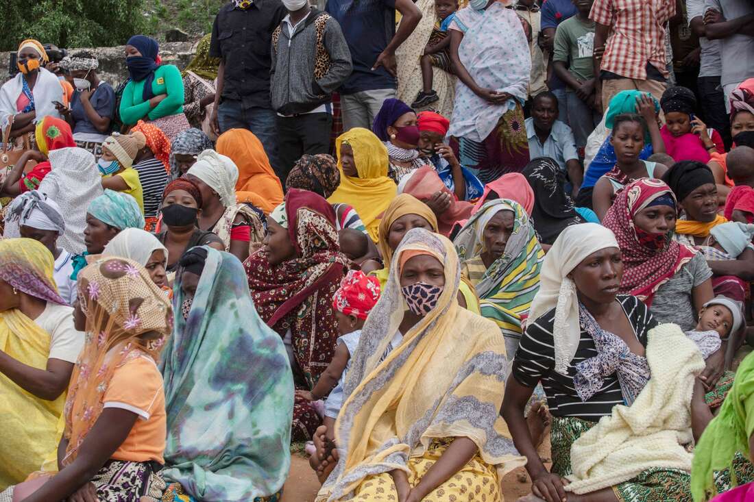
POLYGON ((340 186, 329 196, 330 204, 350 204, 359 214, 369 232, 369 237, 377 242, 377 228, 382 212, 394 199, 397 192, 395 182, 388 178, 388 148, 372 131, 354 127, 336 139, 340 186), (354 150, 354 161, 358 178, 345 176, 341 161, 340 147, 343 143, 354 150))

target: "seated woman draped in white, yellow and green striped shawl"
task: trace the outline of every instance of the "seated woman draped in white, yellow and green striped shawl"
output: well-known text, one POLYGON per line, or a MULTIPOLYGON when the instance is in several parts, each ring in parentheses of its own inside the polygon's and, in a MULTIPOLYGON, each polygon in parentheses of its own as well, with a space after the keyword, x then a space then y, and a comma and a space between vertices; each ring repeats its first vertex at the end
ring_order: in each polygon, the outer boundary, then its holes
POLYGON ((544 259, 532 222, 513 200, 491 200, 453 241, 461 274, 474 285, 483 317, 495 321, 509 360, 518 350, 521 323, 539 290, 544 259))

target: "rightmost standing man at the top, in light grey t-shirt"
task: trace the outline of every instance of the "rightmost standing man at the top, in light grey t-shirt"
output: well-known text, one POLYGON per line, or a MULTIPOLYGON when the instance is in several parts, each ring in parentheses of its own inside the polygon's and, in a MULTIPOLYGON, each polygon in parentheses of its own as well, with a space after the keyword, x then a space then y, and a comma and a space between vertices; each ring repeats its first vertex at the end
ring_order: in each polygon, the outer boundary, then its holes
POLYGON ((731 92, 754 76, 754 3, 750 0, 706 0, 706 38, 720 41, 725 111, 731 112, 731 92))

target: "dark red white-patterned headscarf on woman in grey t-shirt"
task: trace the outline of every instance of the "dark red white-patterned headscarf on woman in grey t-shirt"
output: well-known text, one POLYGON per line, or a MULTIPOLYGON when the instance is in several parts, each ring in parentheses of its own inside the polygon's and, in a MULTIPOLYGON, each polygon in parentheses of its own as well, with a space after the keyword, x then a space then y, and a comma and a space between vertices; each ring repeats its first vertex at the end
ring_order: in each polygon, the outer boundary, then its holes
POLYGON ((639 297, 651 306, 657 289, 673 277, 683 265, 697 253, 690 246, 665 240, 664 246, 656 248, 642 243, 645 238, 633 222, 636 213, 651 205, 661 197, 672 197, 673 191, 659 179, 637 179, 624 188, 605 214, 602 225, 615 234, 623 254, 624 273, 621 280, 621 293, 639 297))

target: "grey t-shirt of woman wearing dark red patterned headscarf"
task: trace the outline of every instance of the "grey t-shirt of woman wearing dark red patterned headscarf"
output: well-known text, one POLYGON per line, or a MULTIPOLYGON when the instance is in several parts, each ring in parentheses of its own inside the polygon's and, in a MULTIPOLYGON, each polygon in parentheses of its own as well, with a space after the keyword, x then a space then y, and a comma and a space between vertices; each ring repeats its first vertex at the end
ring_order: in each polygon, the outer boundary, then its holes
POLYGON ((697 312, 691 289, 712 277, 702 253, 682 266, 667 283, 657 289, 650 310, 658 323, 676 323, 683 331, 697 326, 697 312))

